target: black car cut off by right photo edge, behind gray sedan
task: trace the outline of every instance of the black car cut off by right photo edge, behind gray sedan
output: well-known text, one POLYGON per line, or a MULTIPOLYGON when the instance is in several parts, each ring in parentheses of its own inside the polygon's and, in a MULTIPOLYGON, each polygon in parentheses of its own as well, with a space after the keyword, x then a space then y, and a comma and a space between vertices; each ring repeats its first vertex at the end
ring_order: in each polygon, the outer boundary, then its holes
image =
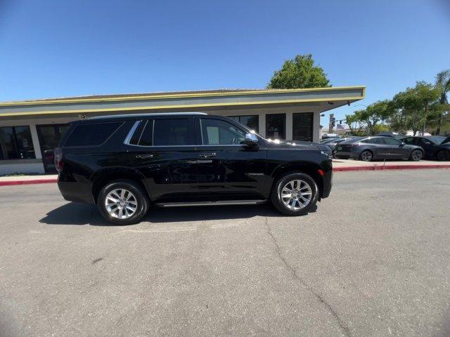
POLYGON ((406 137, 404 143, 420 146, 425 158, 437 160, 450 160, 450 137, 444 136, 420 136, 406 137))

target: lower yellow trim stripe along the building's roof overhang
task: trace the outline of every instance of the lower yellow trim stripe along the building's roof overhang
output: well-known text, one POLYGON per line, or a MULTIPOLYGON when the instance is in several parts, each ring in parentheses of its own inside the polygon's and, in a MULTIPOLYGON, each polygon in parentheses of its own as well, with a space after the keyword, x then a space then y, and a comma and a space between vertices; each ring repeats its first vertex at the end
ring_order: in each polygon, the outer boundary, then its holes
POLYGON ((6 112, 0 113, 0 117, 22 117, 42 114, 89 114, 92 112, 110 112, 110 111, 133 111, 133 110, 173 110, 186 109, 196 107, 220 107, 220 106, 240 106, 240 105, 276 105, 284 103, 305 103, 305 102, 333 102, 338 100, 361 100, 361 97, 342 97, 342 98, 314 98, 304 100, 283 100, 278 102, 235 102, 235 103, 207 103, 207 104, 193 104, 193 105, 155 105, 150 107, 110 107, 100 109, 82 109, 82 110, 47 110, 47 111, 32 111, 32 112, 6 112))

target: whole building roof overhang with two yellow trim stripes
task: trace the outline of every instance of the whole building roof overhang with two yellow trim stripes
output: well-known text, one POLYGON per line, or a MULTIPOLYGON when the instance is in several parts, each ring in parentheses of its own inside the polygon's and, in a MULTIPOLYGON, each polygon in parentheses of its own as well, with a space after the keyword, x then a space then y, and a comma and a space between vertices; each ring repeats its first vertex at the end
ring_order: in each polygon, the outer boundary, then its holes
POLYGON ((238 110, 299 107, 323 112, 362 100, 365 86, 307 89, 219 90, 128 95, 99 95, 0 103, 0 120, 96 116, 115 113, 238 110))

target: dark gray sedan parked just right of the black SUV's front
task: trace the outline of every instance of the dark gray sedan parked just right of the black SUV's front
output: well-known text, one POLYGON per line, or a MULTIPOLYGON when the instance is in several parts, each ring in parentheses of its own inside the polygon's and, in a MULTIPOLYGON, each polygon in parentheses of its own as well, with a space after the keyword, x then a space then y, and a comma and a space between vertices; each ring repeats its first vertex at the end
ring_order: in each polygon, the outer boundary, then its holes
POLYGON ((340 159, 410 159, 423 158, 423 150, 416 145, 406 145, 391 137, 360 137, 345 140, 335 148, 335 157, 340 159))

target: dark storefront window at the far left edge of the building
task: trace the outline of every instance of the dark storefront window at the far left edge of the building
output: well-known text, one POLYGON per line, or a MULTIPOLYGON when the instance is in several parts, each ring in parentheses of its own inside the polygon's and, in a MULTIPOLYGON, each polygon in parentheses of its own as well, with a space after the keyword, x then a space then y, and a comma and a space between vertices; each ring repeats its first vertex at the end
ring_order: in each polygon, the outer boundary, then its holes
POLYGON ((0 159, 34 159, 30 126, 0 127, 0 159))

